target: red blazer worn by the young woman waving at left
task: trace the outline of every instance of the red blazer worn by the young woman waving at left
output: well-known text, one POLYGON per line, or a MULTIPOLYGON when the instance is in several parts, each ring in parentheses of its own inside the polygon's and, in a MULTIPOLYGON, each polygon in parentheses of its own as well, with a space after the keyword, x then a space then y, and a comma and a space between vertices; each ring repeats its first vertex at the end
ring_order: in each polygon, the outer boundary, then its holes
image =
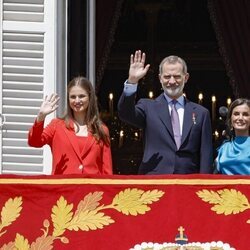
MULTIPOLYGON (((104 130, 109 132, 106 126, 104 130)), ((38 148, 50 146, 52 174, 112 174, 110 146, 98 143, 89 133, 80 152, 75 132, 66 128, 64 120, 53 119, 45 128, 44 122, 35 121, 28 134, 28 144, 38 148)))

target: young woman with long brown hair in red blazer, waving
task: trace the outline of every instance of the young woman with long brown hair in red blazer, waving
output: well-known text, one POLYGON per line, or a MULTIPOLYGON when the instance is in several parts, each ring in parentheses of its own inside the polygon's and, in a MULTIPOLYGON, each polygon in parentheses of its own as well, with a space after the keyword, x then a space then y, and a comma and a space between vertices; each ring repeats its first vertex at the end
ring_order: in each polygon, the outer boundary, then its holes
POLYGON ((28 144, 52 151, 52 174, 112 174, 108 128, 99 117, 94 88, 84 77, 68 84, 67 111, 46 127, 46 116, 58 108, 59 96, 46 96, 29 131, 28 144))

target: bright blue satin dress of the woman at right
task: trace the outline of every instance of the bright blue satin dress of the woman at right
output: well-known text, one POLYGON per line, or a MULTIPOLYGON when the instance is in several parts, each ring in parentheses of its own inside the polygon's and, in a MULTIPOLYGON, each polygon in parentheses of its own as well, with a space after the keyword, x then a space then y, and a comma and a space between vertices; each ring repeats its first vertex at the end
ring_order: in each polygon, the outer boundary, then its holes
POLYGON ((250 136, 237 136, 221 145, 217 170, 227 175, 250 175, 250 136))

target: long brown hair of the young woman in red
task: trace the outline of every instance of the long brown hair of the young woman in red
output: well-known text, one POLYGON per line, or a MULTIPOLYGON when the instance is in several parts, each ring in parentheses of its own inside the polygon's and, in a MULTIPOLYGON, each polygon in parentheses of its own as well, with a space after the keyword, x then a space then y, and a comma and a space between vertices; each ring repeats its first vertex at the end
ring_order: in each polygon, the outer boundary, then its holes
POLYGON ((106 133, 103 129, 104 124, 100 119, 95 89, 93 85, 91 84, 91 82, 83 76, 78 76, 78 77, 73 78, 68 84, 67 110, 66 110, 65 116, 63 117, 66 127, 71 128, 70 121, 74 120, 74 114, 69 105, 69 91, 74 86, 81 87, 89 95, 89 105, 88 105, 86 116, 85 116, 85 121, 86 121, 88 130, 93 134, 93 136, 96 138, 97 141, 101 140, 105 144, 109 145, 110 144, 109 134, 106 133))

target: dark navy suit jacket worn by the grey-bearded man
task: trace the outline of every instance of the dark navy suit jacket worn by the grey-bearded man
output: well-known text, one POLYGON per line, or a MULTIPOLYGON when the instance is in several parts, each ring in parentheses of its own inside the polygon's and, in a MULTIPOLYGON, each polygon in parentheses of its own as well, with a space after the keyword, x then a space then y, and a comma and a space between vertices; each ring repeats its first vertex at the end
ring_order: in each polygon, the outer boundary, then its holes
POLYGON ((168 103, 164 94, 155 100, 136 94, 118 102, 121 120, 143 128, 144 154, 139 174, 212 173, 212 128, 209 111, 185 100, 182 141, 177 150, 168 103))

